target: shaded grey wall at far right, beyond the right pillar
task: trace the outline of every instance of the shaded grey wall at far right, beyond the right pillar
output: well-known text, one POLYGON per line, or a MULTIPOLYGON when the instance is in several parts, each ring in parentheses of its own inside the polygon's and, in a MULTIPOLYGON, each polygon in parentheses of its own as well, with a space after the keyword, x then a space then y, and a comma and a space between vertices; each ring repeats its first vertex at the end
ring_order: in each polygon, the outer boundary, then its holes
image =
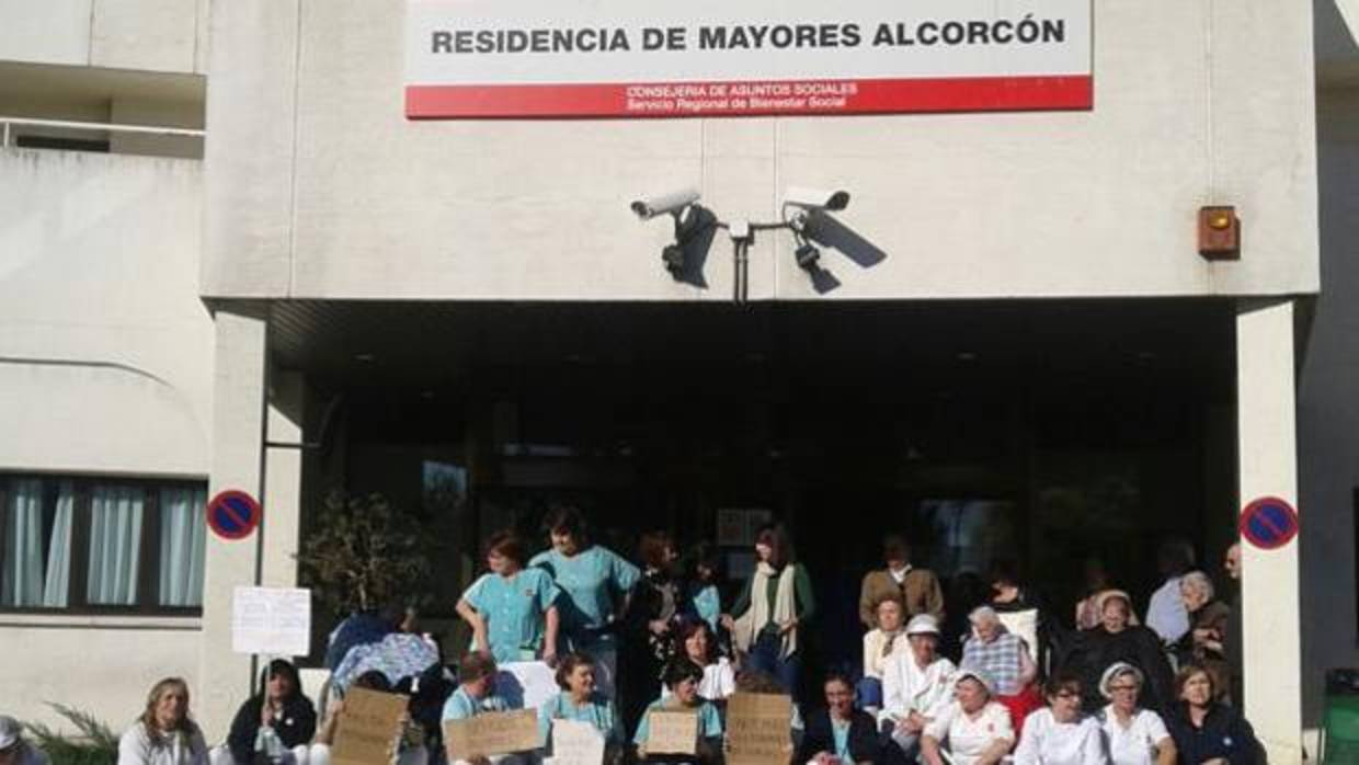
POLYGON ((1359 90, 1318 103, 1322 292, 1298 385, 1303 698, 1320 715, 1329 667, 1359 667, 1355 508, 1359 488, 1359 90))

